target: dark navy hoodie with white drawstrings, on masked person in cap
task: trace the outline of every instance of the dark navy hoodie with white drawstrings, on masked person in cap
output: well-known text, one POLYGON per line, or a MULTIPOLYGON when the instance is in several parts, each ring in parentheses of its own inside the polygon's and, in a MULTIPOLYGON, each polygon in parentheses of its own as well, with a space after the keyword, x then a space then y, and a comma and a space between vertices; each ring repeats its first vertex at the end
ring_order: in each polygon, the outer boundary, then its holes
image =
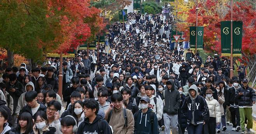
POLYGON ((137 111, 134 115, 134 134, 158 134, 158 119, 154 113, 154 118, 150 118, 152 109, 148 108, 146 113, 142 113, 142 109, 137 111), (153 120, 153 122, 151 122, 153 120))

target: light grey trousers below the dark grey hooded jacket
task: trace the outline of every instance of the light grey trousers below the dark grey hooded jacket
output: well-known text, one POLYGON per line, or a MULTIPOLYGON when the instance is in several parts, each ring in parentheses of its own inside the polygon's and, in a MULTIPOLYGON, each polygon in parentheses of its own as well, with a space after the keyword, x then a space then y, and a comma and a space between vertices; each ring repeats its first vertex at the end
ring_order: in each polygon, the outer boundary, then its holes
POLYGON ((163 114, 163 120, 165 122, 165 134, 170 134, 170 126, 172 128, 172 134, 178 134, 178 115, 168 115, 167 113, 163 114))

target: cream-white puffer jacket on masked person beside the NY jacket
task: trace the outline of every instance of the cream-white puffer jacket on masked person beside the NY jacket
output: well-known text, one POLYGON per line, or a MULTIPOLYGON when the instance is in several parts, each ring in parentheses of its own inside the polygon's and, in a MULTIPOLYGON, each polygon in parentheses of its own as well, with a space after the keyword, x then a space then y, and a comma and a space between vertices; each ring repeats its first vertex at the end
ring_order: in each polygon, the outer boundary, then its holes
POLYGON ((205 97, 205 101, 209 108, 210 117, 216 118, 216 123, 221 122, 221 110, 219 107, 219 102, 213 97, 205 97))

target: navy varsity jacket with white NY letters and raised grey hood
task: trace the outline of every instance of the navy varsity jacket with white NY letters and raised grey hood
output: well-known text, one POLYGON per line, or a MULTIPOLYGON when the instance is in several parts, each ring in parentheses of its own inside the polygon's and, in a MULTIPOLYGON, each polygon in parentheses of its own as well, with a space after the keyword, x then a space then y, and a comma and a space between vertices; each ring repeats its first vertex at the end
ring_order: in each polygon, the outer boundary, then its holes
POLYGON ((187 118, 187 124, 203 124, 209 121, 209 109, 205 99, 198 96, 198 89, 195 84, 191 85, 188 90, 189 96, 182 104, 182 114, 187 118), (195 90, 196 95, 192 97, 190 90, 195 90))

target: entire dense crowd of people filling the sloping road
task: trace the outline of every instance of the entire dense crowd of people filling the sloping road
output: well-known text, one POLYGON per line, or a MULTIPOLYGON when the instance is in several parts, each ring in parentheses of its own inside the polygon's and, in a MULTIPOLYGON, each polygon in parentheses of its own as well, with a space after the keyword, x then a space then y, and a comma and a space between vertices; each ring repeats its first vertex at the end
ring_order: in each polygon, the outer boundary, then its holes
POLYGON ((161 14, 131 13, 127 19, 110 26, 98 52, 47 57, 32 70, 25 63, 5 68, 0 133, 215 134, 226 125, 251 132, 256 94, 244 63, 230 78, 226 57, 202 61, 198 52, 184 53, 181 44, 174 48, 167 36, 172 26, 161 14))

